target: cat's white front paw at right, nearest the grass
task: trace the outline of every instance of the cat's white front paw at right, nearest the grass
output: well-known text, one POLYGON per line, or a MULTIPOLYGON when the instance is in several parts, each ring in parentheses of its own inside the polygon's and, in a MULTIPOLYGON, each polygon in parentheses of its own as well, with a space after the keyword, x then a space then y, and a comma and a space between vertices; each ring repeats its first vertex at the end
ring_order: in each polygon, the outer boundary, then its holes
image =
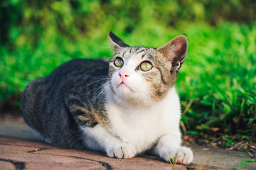
POLYGON ((174 157, 174 162, 178 159, 177 164, 189 164, 193 160, 193 153, 188 147, 170 149, 169 151, 163 152, 160 156, 166 160, 166 162, 169 162, 169 158, 172 160, 174 157))

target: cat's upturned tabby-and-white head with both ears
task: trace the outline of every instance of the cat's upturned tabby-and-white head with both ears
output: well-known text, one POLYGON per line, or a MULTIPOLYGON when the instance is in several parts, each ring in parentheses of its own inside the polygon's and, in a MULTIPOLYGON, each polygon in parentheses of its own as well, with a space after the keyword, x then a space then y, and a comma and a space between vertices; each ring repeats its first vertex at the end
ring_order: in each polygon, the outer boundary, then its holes
POLYGON ((159 48, 130 47, 109 33, 114 57, 110 61, 110 87, 116 101, 151 105, 174 86, 188 51, 186 35, 178 35, 159 48))

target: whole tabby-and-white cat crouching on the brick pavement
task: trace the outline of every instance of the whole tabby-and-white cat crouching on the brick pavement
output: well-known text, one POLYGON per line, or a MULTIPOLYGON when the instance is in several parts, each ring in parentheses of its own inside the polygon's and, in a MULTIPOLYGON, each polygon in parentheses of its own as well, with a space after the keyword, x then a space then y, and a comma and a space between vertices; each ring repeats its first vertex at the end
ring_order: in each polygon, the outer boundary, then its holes
POLYGON ((159 48, 130 47, 109 33, 114 57, 66 62, 32 81, 23 118, 50 145, 132 158, 150 153, 189 164, 181 146, 181 108, 174 83, 188 51, 186 35, 159 48))

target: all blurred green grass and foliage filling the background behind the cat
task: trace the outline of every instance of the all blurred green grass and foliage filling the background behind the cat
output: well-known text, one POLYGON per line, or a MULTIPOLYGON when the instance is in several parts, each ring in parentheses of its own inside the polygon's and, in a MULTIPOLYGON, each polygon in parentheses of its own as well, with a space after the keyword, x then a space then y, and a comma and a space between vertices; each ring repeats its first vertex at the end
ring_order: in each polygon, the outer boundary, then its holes
POLYGON ((2 0, 0 101, 75 58, 111 57, 107 33, 159 47, 188 36, 176 88, 188 132, 256 131, 256 2, 2 0))

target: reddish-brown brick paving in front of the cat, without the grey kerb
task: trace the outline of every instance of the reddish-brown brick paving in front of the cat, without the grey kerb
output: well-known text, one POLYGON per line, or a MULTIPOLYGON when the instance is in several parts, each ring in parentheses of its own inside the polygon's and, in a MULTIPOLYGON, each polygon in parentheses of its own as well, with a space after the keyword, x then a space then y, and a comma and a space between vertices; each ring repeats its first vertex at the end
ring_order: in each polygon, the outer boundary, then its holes
MULTIPOLYGON (((3 159, 23 163, 23 169, 171 169, 159 157, 114 159, 102 152, 64 149, 0 136, 0 160, 3 159)), ((176 165, 175 169, 186 169, 186 166, 176 165)))

